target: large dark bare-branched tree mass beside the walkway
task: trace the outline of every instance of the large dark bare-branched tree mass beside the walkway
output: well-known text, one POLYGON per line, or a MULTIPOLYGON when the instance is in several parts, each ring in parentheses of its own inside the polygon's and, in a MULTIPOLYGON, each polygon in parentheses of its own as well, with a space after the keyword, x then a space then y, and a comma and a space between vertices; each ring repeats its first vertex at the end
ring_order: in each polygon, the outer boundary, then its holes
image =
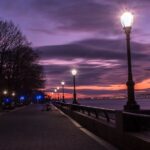
POLYGON ((0 90, 32 90, 43 84, 37 54, 12 22, 0 21, 0 90))

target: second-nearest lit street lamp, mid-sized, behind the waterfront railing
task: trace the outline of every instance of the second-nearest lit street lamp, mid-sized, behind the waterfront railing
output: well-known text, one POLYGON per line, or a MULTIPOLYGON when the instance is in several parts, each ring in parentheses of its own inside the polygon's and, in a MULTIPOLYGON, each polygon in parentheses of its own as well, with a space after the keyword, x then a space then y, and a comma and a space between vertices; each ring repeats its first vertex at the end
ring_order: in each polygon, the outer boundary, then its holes
POLYGON ((77 70, 72 69, 71 74, 73 76, 73 86, 74 86, 74 92, 73 92, 73 104, 78 104, 77 98, 76 98, 76 75, 77 75, 77 70))

